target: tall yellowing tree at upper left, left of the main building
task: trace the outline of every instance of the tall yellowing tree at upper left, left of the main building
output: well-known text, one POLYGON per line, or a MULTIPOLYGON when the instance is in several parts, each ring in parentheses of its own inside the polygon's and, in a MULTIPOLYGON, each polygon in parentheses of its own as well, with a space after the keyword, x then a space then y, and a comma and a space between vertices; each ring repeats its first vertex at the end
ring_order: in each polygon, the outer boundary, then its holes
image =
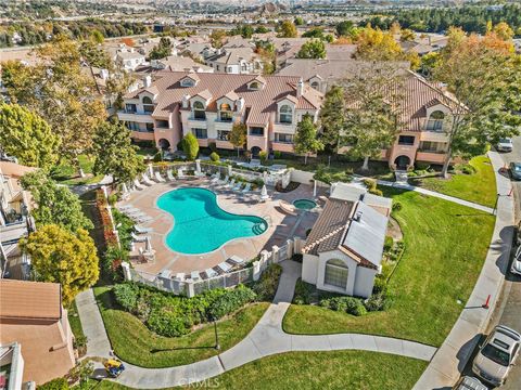
MULTIPOLYGON (((10 78, 11 101, 38 113, 60 139, 60 154, 79 170, 78 155, 89 150, 106 112, 93 79, 81 72, 78 43, 63 36, 36 49, 39 63, 10 78)), ((82 173, 80 171, 80 173, 82 173)))

